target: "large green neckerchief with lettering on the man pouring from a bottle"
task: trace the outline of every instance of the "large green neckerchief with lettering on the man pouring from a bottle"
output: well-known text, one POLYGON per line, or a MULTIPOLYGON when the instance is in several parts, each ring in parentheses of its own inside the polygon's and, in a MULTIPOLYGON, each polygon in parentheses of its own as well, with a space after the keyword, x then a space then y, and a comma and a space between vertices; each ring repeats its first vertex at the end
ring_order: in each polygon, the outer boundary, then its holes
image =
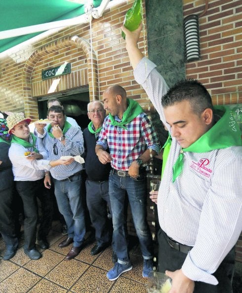
POLYGON ((213 149, 241 146, 241 131, 231 111, 223 106, 215 106, 214 113, 221 118, 204 133, 195 143, 186 148, 181 148, 175 164, 173 165, 172 182, 181 174, 183 168, 183 152, 208 152, 213 149), (221 114, 222 111, 222 114, 221 114))

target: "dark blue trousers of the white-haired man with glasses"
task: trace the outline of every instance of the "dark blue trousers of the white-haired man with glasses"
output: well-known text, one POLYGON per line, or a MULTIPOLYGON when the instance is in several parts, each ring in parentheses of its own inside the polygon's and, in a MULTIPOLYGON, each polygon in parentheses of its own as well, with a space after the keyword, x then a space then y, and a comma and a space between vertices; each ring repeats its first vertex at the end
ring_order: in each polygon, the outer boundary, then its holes
POLYGON ((107 211, 108 205, 111 212, 108 186, 108 181, 99 183, 86 180, 86 204, 95 228, 95 238, 100 246, 109 244, 112 239, 112 222, 108 219, 107 211))

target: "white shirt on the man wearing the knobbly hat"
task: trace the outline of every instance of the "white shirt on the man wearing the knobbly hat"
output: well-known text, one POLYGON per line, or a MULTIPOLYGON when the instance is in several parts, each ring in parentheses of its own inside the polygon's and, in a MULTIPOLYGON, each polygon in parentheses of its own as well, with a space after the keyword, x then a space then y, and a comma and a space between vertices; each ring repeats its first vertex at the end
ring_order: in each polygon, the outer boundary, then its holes
MULTIPOLYGON (((32 137, 30 136, 30 143, 32 137)), ((24 157, 26 151, 33 151, 27 149, 19 144, 12 143, 9 148, 8 155, 13 166, 14 181, 36 181, 44 177, 44 170, 50 170, 49 160, 47 160, 47 152, 43 147, 42 140, 37 138, 36 148, 43 156, 42 160, 29 161, 24 157)))

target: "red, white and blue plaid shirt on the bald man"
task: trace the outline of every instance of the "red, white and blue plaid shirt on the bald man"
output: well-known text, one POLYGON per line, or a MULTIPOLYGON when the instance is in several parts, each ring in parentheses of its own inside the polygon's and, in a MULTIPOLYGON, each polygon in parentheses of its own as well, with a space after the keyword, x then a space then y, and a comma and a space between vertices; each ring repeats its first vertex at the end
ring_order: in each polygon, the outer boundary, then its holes
MULTIPOLYGON (((115 119, 120 121, 119 117, 115 119)), ((127 129, 110 124, 109 115, 103 122, 97 145, 104 149, 109 147, 112 157, 111 166, 117 170, 127 171, 131 163, 147 148, 157 153, 160 144, 157 132, 147 114, 140 113, 131 122, 125 124, 127 129)))

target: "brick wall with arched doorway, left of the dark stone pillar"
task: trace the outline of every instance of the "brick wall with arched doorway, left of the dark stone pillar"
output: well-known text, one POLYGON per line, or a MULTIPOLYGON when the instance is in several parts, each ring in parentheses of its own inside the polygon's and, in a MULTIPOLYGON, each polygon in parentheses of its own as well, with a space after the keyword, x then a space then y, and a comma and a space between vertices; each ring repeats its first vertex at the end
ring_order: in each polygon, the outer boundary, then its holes
MULTIPOLYGON (((1 58, 0 109, 23 111, 28 117, 39 118, 37 98, 47 95, 51 83, 57 79, 42 81, 41 71, 63 62, 71 63, 72 73, 58 77, 55 92, 88 85, 90 100, 93 100, 100 99, 107 86, 121 84, 128 96, 148 108, 144 90, 134 81, 125 41, 121 37, 120 27, 132 3, 133 0, 124 0, 105 11, 104 17, 92 20, 92 52, 89 24, 82 24, 67 27, 1 58)), ((142 37, 140 40, 140 46, 144 47, 142 37)))

